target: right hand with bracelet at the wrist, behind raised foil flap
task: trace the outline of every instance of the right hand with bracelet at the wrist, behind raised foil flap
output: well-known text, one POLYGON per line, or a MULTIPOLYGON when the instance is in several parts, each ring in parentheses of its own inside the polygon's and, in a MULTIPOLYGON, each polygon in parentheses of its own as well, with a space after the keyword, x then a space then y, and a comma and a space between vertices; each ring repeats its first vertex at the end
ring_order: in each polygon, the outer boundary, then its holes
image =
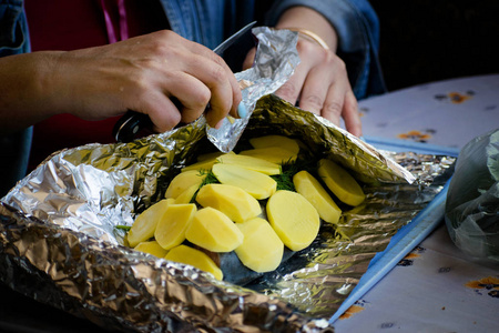
MULTIPOLYGON (((293 104, 298 101, 299 108, 337 125, 343 118, 347 131, 360 137, 357 99, 352 91, 346 65, 336 56, 338 36, 335 28, 314 9, 295 6, 281 14, 276 29, 302 31, 296 46, 301 63, 276 94, 293 104)), ((245 69, 252 65, 254 54, 255 50, 252 50, 246 57, 245 69)))

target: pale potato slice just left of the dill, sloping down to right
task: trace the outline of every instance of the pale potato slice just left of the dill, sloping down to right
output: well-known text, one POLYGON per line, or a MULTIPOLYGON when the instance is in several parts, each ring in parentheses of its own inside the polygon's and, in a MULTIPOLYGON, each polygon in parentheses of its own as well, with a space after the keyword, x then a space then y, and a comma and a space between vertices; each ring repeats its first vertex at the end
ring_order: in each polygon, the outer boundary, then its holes
POLYGON ((269 175, 238 165, 217 163, 212 171, 221 183, 241 188, 258 200, 267 199, 277 189, 269 175))

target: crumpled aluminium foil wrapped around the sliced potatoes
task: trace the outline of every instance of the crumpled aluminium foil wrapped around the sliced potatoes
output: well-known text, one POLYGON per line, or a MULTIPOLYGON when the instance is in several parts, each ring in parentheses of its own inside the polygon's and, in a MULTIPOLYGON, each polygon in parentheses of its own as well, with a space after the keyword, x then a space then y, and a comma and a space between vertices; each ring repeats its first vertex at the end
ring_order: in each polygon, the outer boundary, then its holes
MULTIPOLYGON (((255 82, 248 87, 258 90, 255 82)), ((258 94, 254 103, 246 100, 251 117, 227 120, 221 133, 200 118, 167 133, 47 159, 0 203, 1 281, 128 332, 333 331, 328 319, 370 259, 441 190, 454 160, 377 151, 320 117, 258 94), (363 183, 366 201, 245 286, 123 245, 116 226, 132 225, 198 154, 269 133, 297 138, 315 155, 347 168, 363 183)))

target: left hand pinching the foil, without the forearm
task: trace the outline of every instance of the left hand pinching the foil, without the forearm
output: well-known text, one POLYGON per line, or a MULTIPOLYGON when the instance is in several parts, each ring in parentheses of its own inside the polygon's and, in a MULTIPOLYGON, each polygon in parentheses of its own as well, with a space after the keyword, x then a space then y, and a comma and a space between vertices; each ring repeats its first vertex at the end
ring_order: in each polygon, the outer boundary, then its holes
POLYGON ((172 31, 110 46, 60 52, 49 87, 53 103, 85 120, 146 113, 164 132, 197 119, 211 127, 237 117, 242 95, 224 60, 172 31))

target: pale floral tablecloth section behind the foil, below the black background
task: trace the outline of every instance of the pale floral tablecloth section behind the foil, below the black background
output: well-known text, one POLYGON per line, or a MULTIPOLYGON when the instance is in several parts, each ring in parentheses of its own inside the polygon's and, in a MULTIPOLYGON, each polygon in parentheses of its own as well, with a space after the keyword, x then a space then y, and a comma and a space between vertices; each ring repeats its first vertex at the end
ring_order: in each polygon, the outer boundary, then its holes
POLYGON ((432 82, 359 101, 368 138, 462 148, 499 127, 499 74, 432 82))

